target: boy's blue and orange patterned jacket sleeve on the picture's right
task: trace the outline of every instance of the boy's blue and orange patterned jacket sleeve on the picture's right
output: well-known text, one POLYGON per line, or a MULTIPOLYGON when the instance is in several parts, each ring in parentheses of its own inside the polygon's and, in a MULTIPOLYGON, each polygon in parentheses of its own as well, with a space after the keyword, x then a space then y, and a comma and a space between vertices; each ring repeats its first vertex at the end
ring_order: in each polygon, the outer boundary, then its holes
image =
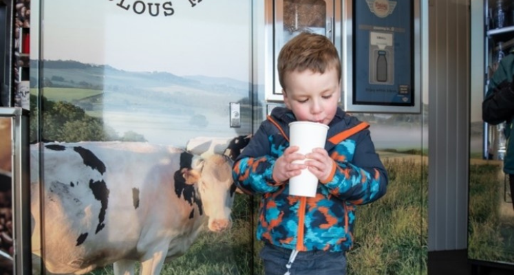
POLYGON ((324 184, 340 199, 354 204, 371 203, 385 195, 387 172, 375 152, 369 130, 358 133, 354 146, 352 162, 334 161, 333 177, 324 184))

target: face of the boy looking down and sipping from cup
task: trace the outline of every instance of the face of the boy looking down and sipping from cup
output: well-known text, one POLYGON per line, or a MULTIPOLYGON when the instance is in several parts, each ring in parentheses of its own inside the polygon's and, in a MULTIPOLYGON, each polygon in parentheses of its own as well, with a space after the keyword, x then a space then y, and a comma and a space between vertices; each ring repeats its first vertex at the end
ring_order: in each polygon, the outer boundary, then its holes
POLYGON ((341 96, 336 69, 324 74, 310 70, 290 72, 284 78, 283 102, 298 121, 319 122, 328 125, 337 111, 341 96))

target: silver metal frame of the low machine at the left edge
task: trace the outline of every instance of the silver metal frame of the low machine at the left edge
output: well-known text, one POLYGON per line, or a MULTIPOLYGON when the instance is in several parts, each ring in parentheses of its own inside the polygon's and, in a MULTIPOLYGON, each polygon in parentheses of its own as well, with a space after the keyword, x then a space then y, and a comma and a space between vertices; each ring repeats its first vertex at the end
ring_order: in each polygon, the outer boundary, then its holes
POLYGON ((32 274, 28 114, 27 110, 21 108, 0 108, 0 118, 10 118, 12 122, 14 274, 32 274))

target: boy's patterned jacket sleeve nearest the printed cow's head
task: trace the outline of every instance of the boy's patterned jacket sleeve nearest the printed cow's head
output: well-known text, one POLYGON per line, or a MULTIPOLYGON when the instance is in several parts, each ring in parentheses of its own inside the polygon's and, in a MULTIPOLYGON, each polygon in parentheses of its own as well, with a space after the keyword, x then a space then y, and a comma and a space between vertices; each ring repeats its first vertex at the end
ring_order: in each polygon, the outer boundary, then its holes
POLYGON ((275 192, 281 185, 272 178, 276 160, 270 155, 268 133, 261 125, 234 162, 232 175, 235 184, 250 195, 275 192))

